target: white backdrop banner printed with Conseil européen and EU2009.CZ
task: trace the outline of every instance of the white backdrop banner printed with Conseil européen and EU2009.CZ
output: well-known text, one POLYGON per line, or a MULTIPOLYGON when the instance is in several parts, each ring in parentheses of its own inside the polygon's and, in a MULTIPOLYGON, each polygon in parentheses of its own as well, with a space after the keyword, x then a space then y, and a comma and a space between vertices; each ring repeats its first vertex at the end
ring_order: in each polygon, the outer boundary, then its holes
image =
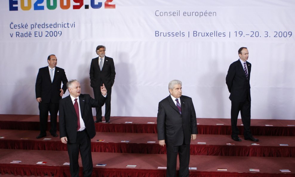
POLYGON ((225 76, 248 47, 252 118, 294 119, 295 1, 2 0, 0 8, 0 114, 39 114, 35 82, 49 54, 93 96, 90 61, 102 44, 116 67, 111 116, 156 117, 178 79, 197 117, 230 118, 225 76))

